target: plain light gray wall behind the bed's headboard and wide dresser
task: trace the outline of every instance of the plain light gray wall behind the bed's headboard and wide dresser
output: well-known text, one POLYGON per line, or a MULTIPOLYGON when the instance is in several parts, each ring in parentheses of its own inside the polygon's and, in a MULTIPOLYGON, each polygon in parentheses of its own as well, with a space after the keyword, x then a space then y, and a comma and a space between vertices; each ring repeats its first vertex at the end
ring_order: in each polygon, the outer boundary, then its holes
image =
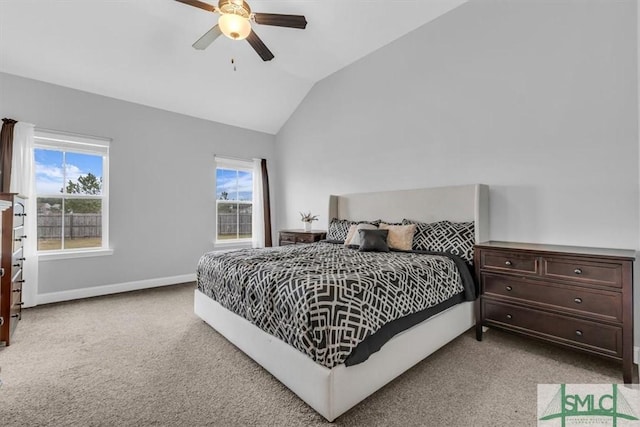
POLYGON ((485 183, 491 239, 637 248, 632 0, 475 0, 316 84, 276 137, 278 227, 329 194, 485 183))

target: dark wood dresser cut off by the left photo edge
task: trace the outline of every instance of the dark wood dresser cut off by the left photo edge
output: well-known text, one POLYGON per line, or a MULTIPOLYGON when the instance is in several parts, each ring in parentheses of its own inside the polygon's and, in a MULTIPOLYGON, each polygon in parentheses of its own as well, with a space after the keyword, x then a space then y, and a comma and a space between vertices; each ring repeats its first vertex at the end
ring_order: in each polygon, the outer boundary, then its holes
POLYGON ((22 310, 22 267, 25 257, 23 241, 26 212, 24 200, 14 193, 0 193, 0 200, 9 202, 2 211, 2 256, 0 257, 0 342, 11 344, 11 335, 18 325, 22 310))

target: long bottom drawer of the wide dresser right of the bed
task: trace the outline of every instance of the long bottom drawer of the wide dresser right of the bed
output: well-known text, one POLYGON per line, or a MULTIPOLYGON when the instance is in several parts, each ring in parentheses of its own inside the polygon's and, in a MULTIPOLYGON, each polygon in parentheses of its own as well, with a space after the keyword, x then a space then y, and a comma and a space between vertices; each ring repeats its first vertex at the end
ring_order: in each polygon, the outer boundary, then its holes
POLYGON ((560 314, 483 300, 487 323, 530 333, 550 341, 622 357, 622 328, 560 314))

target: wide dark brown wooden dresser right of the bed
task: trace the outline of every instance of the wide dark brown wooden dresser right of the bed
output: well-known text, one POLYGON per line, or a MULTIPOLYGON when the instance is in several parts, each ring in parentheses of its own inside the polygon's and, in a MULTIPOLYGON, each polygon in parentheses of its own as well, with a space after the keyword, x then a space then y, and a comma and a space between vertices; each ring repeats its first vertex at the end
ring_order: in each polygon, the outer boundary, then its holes
MULTIPOLYGON (((622 362, 633 378, 635 251, 476 245, 476 338, 492 326, 622 362)), ((637 380, 637 379, 636 379, 637 380)))

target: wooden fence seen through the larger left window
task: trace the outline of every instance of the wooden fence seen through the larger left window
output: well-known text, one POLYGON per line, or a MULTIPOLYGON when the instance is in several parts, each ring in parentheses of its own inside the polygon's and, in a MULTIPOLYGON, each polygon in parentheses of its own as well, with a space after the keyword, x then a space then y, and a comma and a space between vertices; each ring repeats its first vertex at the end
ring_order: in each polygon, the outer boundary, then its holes
MULTIPOLYGON (((38 215, 38 239, 59 239, 62 214, 38 215)), ((102 214, 64 215, 64 238, 102 237, 102 214)))

